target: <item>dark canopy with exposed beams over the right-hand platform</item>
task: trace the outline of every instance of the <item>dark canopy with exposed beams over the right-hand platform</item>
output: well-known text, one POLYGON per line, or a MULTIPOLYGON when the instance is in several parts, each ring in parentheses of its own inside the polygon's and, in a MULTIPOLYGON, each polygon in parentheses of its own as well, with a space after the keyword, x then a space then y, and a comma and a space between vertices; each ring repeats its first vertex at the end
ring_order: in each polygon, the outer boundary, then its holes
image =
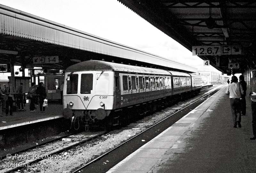
POLYGON ((223 73, 255 66, 256 1, 118 1, 223 73))

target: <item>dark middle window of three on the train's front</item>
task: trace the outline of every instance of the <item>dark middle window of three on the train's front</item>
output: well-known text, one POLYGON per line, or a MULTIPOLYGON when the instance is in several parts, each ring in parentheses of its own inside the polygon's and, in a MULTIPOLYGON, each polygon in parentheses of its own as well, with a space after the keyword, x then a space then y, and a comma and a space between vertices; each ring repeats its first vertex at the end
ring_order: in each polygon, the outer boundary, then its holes
POLYGON ((81 75, 81 85, 80 85, 80 93, 81 94, 91 94, 92 90, 92 74, 82 74, 81 75))

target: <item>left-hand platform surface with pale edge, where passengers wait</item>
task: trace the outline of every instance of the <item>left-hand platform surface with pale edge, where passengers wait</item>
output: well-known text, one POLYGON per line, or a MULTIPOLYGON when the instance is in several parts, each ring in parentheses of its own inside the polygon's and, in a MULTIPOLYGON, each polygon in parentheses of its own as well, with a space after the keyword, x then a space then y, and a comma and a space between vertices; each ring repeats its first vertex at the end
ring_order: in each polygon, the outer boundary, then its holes
POLYGON ((0 117, 0 130, 62 117, 63 106, 60 104, 49 104, 45 112, 40 112, 39 106, 36 108, 37 112, 30 112, 29 104, 26 104, 24 107, 26 111, 13 112, 12 116, 0 117))

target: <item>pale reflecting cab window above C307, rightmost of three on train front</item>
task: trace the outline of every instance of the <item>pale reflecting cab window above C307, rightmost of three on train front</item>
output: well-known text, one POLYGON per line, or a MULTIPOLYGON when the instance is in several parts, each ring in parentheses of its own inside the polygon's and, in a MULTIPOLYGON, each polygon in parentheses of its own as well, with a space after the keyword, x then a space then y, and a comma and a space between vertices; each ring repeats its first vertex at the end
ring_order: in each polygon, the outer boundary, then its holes
POLYGON ((109 83, 109 75, 107 73, 96 74, 95 93, 108 94, 108 83, 109 83))

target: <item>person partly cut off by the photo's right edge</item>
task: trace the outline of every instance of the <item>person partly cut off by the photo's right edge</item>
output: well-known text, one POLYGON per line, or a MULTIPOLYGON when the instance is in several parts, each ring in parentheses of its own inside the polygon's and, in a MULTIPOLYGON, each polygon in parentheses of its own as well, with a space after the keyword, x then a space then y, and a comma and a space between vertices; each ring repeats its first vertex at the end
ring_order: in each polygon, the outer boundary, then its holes
POLYGON ((252 68, 252 78, 250 80, 250 93, 252 100, 252 133, 253 137, 250 140, 256 139, 256 67, 252 68))

